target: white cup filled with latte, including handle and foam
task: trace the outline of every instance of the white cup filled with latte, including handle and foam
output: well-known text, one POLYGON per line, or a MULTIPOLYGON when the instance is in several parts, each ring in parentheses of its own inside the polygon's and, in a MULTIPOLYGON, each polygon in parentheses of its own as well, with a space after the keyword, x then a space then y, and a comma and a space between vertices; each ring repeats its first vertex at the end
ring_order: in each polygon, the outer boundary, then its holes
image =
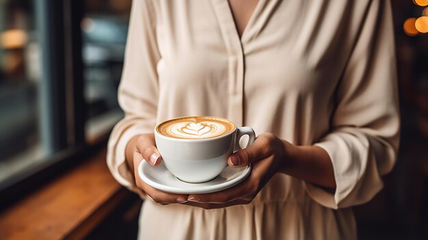
POLYGON ((155 128, 157 150, 165 167, 181 181, 203 183, 218 176, 227 158, 240 150, 239 139, 256 134, 250 126, 237 127, 224 118, 189 116, 161 122, 155 128))

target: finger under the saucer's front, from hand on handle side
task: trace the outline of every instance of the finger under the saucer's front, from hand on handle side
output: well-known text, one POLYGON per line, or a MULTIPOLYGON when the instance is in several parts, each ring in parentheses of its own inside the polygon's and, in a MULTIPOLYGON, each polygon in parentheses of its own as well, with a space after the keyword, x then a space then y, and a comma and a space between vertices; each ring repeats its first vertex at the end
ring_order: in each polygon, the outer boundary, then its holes
POLYGON ((231 187, 223 191, 217 191, 212 194, 189 194, 187 200, 189 202, 223 204, 243 198, 244 196, 255 196, 258 191, 258 187, 256 187, 256 185, 253 186, 254 181, 252 178, 254 177, 250 174, 247 179, 235 187, 231 187))

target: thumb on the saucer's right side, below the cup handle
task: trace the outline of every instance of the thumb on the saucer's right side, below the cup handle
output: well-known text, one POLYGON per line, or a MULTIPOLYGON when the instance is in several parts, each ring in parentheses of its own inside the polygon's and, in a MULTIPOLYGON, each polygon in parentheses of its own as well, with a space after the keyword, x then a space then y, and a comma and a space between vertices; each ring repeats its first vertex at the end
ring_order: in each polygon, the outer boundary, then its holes
POLYGON ((234 168, 241 168, 254 161, 269 157, 272 154, 271 138, 270 135, 259 135, 253 144, 230 155, 228 157, 228 165, 234 168))

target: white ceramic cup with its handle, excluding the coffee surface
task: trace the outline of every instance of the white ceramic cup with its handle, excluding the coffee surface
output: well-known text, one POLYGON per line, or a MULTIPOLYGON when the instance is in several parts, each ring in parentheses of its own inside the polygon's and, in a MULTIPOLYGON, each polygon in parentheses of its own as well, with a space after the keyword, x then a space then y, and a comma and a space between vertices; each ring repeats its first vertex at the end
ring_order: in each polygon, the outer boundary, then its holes
POLYGON ((218 176, 228 165, 227 158, 241 150, 239 139, 243 135, 249 137, 247 146, 256 138, 250 126, 237 128, 236 124, 230 133, 204 139, 167 137, 155 128, 156 146, 163 164, 174 176, 188 183, 203 183, 218 176))

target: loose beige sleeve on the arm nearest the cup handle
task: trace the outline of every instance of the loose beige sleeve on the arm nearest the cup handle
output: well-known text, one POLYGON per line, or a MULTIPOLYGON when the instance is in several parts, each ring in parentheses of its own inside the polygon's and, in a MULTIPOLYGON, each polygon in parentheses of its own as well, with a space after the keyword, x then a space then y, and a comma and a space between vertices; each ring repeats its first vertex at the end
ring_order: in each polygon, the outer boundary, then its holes
POLYGON ((399 144, 394 34, 390 1, 371 1, 336 89, 331 131, 315 144, 332 161, 336 191, 306 183, 319 204, 338 209, 367 202, 383 187, 399 144))

